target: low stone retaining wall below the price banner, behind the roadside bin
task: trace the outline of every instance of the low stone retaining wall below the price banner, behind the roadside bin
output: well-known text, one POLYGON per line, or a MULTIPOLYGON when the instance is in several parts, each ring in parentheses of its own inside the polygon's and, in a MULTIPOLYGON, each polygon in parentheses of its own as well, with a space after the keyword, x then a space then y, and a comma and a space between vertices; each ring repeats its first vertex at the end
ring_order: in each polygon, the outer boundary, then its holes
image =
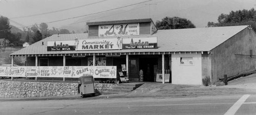
MULTIPOLYGON (((116 84, 95 83, 98 93, 116 84)), ((52 97, 78 95, 78 83, 0 81, 0 98, 52 97)))

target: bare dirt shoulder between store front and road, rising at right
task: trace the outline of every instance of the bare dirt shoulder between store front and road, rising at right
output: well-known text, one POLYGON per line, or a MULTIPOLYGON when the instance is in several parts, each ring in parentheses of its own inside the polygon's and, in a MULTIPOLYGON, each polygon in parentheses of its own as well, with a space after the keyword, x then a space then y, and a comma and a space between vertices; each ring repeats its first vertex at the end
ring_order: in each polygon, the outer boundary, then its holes
MULTIPOLYGON (((223 83, 224 84, 224 83, 223 83)), ((176 85, 156 82, 144 83, 129 94, 112 95, 115 98, 135 97, 198 97, 218 95, 256 94, 256 74, 234 79, 223 86, 176 85)))

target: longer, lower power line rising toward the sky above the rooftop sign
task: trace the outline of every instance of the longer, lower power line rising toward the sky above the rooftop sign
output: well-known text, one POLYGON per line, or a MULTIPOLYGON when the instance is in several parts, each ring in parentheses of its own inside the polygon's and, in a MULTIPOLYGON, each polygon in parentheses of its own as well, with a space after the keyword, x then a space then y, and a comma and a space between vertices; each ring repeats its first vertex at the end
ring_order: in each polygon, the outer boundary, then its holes
MULTIPOLYGON (((112 10, 116 10, 116 9, 120 9, 120 8, 125 8, 125 7, 130 7, 130 6, 134 6, 134 5, 138 5, 138 4, 142 4, 142 3, 146 3, 146 2, 150 2, 150 1, 153 1, 153 0, 148 0, 148 1, 140 2, 140 3, 136 3, 136 4, 132 4, 132 5, 127 5, 127 6, 123 6, 123 7, 118 7, 118 8, 114 8, 114 9, 110 9, 110 10, 100 11, 100 12, 96 12, 96 13, 91 13, 91 14, 86 14, 86 15, 81 15, 81 16, 76 16, 76 17, 71 17, 71 18, 66 18, 66 19, 60 19, 60 20, 56 20, 56 21, 50 21, 50 22, 46 22, 46 24, 50 24, 50 23, 58 22, 58 21, 63 21, 63 20, 68 20, 68 19, 74 19, 74 18, 78 18, 78 17, 84 17, 84 16, 98 14, 98 13, 103 13, 103 12, 108 12, 108 11, 112 11, 112 10)), ((20 28, 27 28, 27 27, 32 27, 32 26, 33 25, 26 26, 26 27, 20 27, 20 28)), ((0 30, 0 32, 1 31, 7 31, 7 30, 10 30, 10 29, 0 30)))

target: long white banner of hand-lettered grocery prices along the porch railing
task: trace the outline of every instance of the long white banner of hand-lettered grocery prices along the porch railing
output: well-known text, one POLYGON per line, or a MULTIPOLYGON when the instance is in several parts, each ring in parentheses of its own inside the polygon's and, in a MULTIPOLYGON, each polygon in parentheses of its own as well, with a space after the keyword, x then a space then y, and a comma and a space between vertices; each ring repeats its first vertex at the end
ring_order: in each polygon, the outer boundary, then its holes
POLYGON ((116 66, 0 66, 0 77, 116 78, 116 66))

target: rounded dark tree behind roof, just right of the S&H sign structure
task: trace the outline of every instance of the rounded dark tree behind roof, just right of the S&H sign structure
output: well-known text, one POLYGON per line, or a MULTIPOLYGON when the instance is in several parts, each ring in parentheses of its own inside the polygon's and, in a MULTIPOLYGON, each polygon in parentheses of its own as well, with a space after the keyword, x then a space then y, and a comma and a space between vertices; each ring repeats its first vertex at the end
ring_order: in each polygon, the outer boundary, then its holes
POLYGON ((167 16, 164 17, 161 21, 157 20, 156 27, 159 30, 196 28, 196 26, 186 18, 167 17, 167 16), (174 22, 176 23, 175 26, 174 26, 174 22))

